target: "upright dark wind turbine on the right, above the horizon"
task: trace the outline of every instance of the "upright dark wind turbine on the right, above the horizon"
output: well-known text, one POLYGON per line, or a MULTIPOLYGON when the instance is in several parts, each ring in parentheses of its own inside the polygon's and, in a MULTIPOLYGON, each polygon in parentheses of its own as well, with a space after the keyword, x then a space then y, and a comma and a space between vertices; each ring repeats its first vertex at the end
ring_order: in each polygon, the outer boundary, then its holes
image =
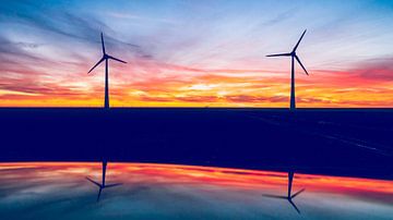
POLYGON ((308 75, 308 72, 305 68, 305 65, 300 62, 299 57, 296 54, 296 49, 298 48, 302 37, 306 34, 306 30, 302 33, 300 39, 298 40, 298 42, 296 44, 296 46, 294 47, 291 52, 288 53, 277 53, 277 54, 269 54, 266 57, 290 57, 291 58, 291 72, 290 72, 290 110, 295 110, 296 109, 296 99, 295 99, 295 59, 296 61, 300 64, 300 66, 303 69, 305 73, 308 75))

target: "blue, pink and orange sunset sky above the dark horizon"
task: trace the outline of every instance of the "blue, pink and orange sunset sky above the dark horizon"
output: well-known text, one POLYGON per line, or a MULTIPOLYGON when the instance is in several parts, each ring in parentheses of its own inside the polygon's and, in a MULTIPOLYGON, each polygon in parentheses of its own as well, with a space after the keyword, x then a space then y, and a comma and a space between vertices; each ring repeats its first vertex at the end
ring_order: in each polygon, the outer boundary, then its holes
POLYGON ((0 106, 393 107, 393 1, 13 0, 0 4, 0 106))

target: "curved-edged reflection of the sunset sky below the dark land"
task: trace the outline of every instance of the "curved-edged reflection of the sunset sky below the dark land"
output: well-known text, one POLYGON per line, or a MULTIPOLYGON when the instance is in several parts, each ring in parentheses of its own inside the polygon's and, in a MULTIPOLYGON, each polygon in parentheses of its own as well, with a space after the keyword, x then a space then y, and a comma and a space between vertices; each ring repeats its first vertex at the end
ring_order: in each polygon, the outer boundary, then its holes
POLYGON ((109 163, 96 203, 100 163, 0 163, 0 217, 8 219, 392 219, 393 183, 295 174, 288 201, 287 173, 109 163))

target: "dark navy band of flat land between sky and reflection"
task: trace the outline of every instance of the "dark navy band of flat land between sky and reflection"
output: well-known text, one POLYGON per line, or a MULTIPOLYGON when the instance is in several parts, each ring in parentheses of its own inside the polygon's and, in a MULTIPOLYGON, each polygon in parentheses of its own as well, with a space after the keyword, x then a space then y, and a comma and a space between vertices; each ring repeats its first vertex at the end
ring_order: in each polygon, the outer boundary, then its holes
POLYGON ((199 164, 393 180, 391 109, 0 109, 0 161, 199 164))

